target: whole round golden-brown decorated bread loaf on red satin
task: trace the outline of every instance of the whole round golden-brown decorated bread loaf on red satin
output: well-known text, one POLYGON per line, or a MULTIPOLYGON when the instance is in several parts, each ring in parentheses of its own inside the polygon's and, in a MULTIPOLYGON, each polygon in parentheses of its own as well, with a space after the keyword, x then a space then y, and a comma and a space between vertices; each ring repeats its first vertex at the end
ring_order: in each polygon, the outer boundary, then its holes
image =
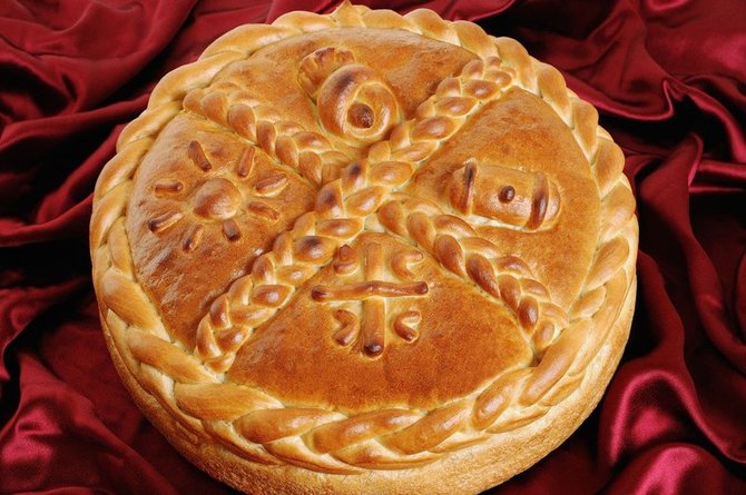
POLYGON ((230 31, 97 184, 119 374, 246 492, 509 478, 590 414, 631 323, 635 201, 597 120, 516 41, 428 10, 230 31))

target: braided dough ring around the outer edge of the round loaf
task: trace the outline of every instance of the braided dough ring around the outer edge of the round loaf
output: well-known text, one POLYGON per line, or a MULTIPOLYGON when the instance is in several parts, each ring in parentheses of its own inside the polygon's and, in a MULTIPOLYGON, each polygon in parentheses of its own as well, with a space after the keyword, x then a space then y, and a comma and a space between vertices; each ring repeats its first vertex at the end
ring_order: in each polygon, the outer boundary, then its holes
MULTIPOLYGON (((138 383, 170 412, 193 442, 200 436, 216 437, 257 462, 334 473, 410 467, 490 433, 530 423, 579 385, 585 367, 618 317, 634 277, 637 232, 634 200, 621 176, 624 157, 596 119, 592 107, 565 88, 559 72, 531 59, 517 42, 487 37, 472 24, 442 21, 432 12, 401 17, 343 7, 328 17, 298 12, 271 27, 238 28, 215 42, 199 61, 164 78, 148 110, 122 131, 119 155, 97 185, 91 221, 94 279, 114 345, 138 383), (285 408, 258 390, 222 383, 223 376, 203 366, 163 327, 135 279, 124 228, 131 177, 155 136, 180 111, 187 91, 209 85, 219 69, 261 46, 301 32, 353 26, 408 29, 463 46, 482 58, 499 51, 501 69, 511 72, 518 86, 542 97, 573 130, 606 206, 599 248, 582 295, 570 308, 570 325, 538 366, 504 374, 483 390, 432 412, 395 409, 345 417, 322 409, 285 408), (210 400, 216 393, 220 403, 210 400)), ((307 219, 300 224, 311 228, 307 219)))

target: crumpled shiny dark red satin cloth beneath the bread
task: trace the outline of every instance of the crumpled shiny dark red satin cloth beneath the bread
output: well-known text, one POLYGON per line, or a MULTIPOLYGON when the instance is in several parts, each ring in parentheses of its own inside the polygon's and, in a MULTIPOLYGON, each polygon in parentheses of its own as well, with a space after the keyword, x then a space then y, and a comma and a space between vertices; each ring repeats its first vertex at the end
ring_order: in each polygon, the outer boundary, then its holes
MULTIPOLYGON (((91 192, 167 71, 238 24, 334 3, 0 1, 0 493, 229 492, 143 418, 109 362, 91 192)), ((746 2, 363 3, 518 39, 627 157, 640 254, 621 366, 570 439, 491 493, 746 493, 746 2)))

